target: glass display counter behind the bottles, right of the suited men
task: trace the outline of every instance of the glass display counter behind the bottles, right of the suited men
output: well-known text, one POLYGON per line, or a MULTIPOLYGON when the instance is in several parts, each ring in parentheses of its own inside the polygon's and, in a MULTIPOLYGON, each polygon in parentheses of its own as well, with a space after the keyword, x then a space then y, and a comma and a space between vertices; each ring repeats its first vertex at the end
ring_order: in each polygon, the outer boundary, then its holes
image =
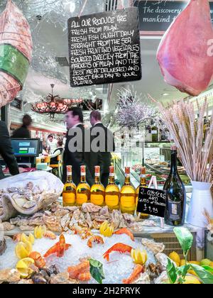
MULTIPOLYGON (((159 187, 163 187, 166 178, 170 173, 170 142, 141 142, 136 148, 117 148, 116 150, 116 175, 120 184, 124 183, 124 168, 131 167, 131 181, 135 187, 140 183, 141 167, 146 167, 147 183, 151 176, 157 177, 159 187)), ((190 178, 187 176, 184 167, 179 162, 178 173, 190 192, 190 178)))

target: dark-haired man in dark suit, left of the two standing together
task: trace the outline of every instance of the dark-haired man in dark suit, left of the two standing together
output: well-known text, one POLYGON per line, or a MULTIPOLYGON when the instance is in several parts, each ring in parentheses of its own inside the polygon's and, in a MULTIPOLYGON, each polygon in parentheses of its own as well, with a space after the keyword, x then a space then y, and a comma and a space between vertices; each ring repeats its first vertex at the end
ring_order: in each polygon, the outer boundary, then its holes
MULTIPOLYGON (((65 116, 67 123, 67 140, 63 155, 63 175, 62 182, 67 180, 67 165, 72 165, 72 180, 77 185, 80 183, 80 166, 86 165, 87 183, 92 186, 94 178, 89 171, 88 160, 89 152, 84 150, 85 128, 82 109, 73 107, 67 111, 65 116)), ((89 144, 90 145, 90 144, 89 144)))

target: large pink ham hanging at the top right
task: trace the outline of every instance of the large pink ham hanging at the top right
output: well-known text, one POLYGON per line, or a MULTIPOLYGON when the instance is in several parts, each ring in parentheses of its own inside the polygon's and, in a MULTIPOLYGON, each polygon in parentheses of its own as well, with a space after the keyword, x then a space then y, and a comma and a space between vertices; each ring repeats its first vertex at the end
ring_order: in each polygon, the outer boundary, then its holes
POLYGON ((165 82, 192 96, 207 89, 213 75, 209 40, 213 40, 209 1, 190 0, 158 48, 157 60, 165 82))

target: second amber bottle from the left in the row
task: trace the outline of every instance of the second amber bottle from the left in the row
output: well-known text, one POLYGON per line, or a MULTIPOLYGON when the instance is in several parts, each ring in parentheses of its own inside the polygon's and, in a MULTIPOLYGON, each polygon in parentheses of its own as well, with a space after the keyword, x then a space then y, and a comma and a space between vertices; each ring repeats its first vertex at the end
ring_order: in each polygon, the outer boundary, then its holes
POLYGON ((81 166, 81 180, 76 189, 76 204, 82 205, 89 202, 90 187, 86 180, 86 166, 81 166))

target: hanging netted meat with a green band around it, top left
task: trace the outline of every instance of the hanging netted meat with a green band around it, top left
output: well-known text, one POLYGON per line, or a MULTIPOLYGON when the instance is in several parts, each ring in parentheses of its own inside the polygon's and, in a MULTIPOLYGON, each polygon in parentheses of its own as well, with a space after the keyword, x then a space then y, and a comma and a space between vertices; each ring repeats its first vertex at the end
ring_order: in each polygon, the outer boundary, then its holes
POLYGON ((28 21, 9 0, 0 16, 0 108, 13 101, 22 89, 32 50, 28 21))

